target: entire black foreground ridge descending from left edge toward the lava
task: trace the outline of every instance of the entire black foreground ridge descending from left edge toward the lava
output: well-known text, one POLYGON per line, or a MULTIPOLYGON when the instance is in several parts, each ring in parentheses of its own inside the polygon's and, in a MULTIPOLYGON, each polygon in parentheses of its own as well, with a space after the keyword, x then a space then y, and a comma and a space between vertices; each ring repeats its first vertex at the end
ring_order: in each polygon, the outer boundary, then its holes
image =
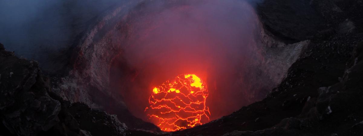
POLYGON ((0 135, 125 135, 115 115, 63 100, 35 61, 17 58, 0 44, 0 135), (74 118, 76 117, 76 118, 74 118))

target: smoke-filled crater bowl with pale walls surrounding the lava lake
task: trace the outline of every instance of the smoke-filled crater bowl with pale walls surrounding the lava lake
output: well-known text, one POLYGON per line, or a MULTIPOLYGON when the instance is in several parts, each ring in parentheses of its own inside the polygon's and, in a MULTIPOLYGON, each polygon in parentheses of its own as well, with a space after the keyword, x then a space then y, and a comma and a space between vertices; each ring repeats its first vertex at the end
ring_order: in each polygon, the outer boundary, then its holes
POLYGON ((205 79, 215 120, 264 98, 309 43, 270 37, 246 1, 146 1, 129 10, 107 12, 80 40, 64 81, 81 93, 65 94, 71 102, 128 109, 148 121, 152 88, 191 73, 205 79))

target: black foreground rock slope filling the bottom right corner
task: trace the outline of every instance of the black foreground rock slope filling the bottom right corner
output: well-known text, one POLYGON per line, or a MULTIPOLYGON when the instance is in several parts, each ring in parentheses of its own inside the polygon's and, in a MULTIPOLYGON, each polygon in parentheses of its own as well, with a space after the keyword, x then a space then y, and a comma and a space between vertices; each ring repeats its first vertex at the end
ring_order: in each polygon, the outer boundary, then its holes
POLYGON ((319 96, 309 102, 298 117, 283 119, 260 131, 233 131, 225 136, 361 136, 363 135, 363 42, 358 44, 339 83, 319 88, 319 96))

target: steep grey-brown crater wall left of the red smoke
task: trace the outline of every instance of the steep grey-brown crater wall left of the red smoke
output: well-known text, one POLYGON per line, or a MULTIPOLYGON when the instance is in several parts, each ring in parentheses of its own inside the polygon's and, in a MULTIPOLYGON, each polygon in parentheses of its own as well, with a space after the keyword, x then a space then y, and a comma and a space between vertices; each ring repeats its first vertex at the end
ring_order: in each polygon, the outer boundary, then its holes
POLYGON ((126 20, 129 8, 138 1, 107 11, 80 40, 72 60, 73 70, 62 78, 54 91, 70 102, 82 102, 90 107, 117 114, 119 120, 130 128, 160 131, 151 123, 135 118, 128 111, 122 96, 110 92, 110 63, 121 52, 127 37, 126 20))

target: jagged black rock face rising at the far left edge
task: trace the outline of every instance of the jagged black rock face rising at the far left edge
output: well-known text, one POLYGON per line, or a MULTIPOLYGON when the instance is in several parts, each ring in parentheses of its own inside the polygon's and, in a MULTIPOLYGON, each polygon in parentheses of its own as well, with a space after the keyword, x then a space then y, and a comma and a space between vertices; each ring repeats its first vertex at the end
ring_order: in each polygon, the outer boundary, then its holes
POLYGON ((0 44, 0 113, 4 125, 17 135, 37 135, 56 124, 60 103, 52 99, 48 79, 38 63, 17 58, 0 44))

